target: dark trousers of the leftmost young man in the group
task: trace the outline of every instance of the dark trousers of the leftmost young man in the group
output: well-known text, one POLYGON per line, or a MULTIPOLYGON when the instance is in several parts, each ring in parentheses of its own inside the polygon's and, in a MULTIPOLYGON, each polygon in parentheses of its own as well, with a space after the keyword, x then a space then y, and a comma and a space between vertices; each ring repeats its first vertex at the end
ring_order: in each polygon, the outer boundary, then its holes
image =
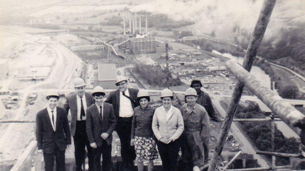
POLYGON ((56 161, 56 171, 64 171, 65 170, 65 152, 66 150, 59 150, 56 146, 52 153, 43 153, 44 159, 44 169, 46 171, 53 171, 54 167, 54 157, 56 161))

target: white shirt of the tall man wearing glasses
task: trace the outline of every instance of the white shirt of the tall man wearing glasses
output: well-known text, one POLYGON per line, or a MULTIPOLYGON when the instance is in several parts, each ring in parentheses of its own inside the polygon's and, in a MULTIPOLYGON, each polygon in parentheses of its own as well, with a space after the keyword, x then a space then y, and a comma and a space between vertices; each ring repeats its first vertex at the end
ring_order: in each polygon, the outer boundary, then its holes
MULTIPOLYGON (((129 96, 128 89, 125 91, 125 95, 129 96)), ((131 101, 129 98, 123 96, 123 93, 120 91, 119 117, 131 117, 131 116, 133 116, 133 106, 131 105, 131 101)))

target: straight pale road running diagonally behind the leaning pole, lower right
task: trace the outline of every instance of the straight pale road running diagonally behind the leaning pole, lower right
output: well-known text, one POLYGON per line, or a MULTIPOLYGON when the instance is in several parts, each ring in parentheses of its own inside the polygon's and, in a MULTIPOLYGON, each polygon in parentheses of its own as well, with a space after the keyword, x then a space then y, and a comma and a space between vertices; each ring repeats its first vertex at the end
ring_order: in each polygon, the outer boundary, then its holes
MULTIPOLYGON (((213 105, 217 108, 217 110, 219 111, 219 113, 223 116, 226 117, 226 111, 222 108, 222 106, 220 105, 219 101, 220 99, 218 98, 217 95, 212 95, 211 93, 209 93, 210 96, 212 96, 212 103, 213 105)), ((239 128, 236 126, 236 124, 234 122, 232 122, 231 125, 231 131, 234 134, 235 139, 237 139, 237 141, 242 144, 242 146, 240 147, 240 149, 242 150, 242 152, 245 152, 247 154, 252 154, 254 159, 257 159, 257 163, 261 166, 261 167, 268 167, 269 165, 267 164, 267 162, 259 155, 256 154, 253 146, 251 145, 251 143, 248 141, 248 139, 239 131, 239 128)))

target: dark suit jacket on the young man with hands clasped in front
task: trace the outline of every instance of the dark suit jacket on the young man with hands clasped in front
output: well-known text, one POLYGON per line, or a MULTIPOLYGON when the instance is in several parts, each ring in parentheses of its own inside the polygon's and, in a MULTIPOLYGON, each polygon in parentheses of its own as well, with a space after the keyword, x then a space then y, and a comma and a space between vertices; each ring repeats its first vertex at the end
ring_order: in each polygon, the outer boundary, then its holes
POLYGON ((105 139, 107 144, 112 143, 112 132, 117 124, 117 119, 114 116, 113 106, 108 103, 104 103, 103 119, 98 112, 98 107, 93 104, 87 108, 86 113, 86 131, 90 144, 96 143, 97 146, 101 146, 103 138, 101 135, 106 132, 109 136, 105 139))

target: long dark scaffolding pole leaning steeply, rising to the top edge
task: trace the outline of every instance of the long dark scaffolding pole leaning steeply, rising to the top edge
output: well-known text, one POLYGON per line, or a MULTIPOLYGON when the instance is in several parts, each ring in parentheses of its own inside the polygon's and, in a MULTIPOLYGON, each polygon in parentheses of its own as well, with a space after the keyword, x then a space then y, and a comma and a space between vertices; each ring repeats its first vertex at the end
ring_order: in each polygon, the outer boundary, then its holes
MULTIPOLYGON (((262 38, 264 37, 264 33, 266 31, 268 22, 270 20, 270 16, 272 14, 272 10, 274 8, 275 2, 276 0, 264 0, 259 18, 257 20, 251 39, 249 41, 246 55, 244 57, 242 64, 242 67, 244 67, 247 71, 251 70, 252 63, 256 57, 259 44, 261 43, 262 38)), ((242 82, 237 82, 231 98, 230 105, 227 109, 226 118, 222 124, 220 134, 217 139, 217 144, 215 146, 215 150, 212 159, 210 161, 208 171, 214 171, 216 169, 218 158, 221 155, 223 145, 225 143, 228 131, 232 124, 234 113, 237 109, 238 103, 242 95, 243 88, 244 88, 244 84, 242 82)))

